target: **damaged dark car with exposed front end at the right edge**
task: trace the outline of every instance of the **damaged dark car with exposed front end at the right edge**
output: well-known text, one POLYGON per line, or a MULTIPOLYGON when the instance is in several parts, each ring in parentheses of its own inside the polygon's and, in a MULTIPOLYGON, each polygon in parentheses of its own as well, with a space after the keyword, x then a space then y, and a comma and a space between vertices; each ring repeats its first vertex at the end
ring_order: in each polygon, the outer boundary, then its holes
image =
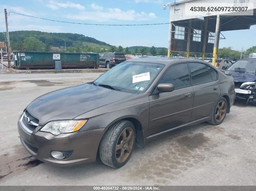
POLYGON ((245 58, 234 62, 227 71, 234 78, 236 99, 251 101, 256 106, 256 58, 245 58))

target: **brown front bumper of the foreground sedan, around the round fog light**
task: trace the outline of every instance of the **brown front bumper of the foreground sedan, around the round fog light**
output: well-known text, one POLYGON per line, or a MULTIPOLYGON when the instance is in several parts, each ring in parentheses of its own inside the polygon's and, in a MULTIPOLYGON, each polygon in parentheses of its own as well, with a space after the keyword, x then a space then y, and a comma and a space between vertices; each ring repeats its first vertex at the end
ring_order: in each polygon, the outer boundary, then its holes
POLYGON ((85 132, 63 133, 52 135, 40 132, 37 127, 32 133, 27 132, 18 123, 18 132, 22 145, 36 159, 57 166, 72 166, 91 163, 96 160, 98 146, 106 129, 94 129, 85 132), (65 152, 64 159, 55 159, 52 151, 65 152))

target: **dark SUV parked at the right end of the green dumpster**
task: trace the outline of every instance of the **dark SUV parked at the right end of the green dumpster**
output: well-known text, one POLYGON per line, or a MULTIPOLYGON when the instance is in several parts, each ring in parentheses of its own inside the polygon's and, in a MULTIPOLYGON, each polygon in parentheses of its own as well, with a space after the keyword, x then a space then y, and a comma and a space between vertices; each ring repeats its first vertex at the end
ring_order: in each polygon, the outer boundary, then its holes
POLYGON ((112 68, 126 60, 124 53, 102 53, 100 55, 100 65, 112 68))

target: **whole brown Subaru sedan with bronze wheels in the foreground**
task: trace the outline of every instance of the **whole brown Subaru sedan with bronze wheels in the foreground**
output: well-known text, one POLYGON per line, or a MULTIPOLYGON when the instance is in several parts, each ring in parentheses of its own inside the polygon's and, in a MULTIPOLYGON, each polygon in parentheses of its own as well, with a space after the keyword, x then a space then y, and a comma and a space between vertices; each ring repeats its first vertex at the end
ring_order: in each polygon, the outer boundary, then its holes
POLYGON ((219 125, 235 98, 234 80, 194 59, 125 61, 93 82, 44 94, 18 119, 24 147, 40 161, 114 168, 135 144, 180 127, 219 125))

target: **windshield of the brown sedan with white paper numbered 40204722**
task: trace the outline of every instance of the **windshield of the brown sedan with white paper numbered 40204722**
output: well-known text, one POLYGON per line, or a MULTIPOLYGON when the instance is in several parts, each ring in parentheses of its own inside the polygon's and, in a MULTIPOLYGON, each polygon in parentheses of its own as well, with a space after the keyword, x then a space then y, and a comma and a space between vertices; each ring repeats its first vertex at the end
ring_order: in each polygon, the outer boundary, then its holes
POLYGON ((142 93, 147 90, 164 66, 143 62, 123 62, 101 75, 94 83, 105 84, 127 93, 142 93))

